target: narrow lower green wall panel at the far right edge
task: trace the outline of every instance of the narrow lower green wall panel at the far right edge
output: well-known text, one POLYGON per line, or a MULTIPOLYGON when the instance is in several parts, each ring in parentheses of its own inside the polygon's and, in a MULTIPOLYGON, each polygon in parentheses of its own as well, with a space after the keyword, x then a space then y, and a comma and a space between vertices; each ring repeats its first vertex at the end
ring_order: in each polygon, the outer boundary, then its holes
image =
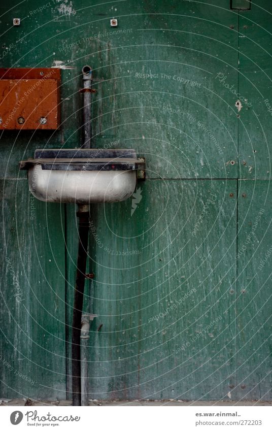
POLYGON ((235 395, 271 399, 271 210, 269 181, 239 181, 235 395))

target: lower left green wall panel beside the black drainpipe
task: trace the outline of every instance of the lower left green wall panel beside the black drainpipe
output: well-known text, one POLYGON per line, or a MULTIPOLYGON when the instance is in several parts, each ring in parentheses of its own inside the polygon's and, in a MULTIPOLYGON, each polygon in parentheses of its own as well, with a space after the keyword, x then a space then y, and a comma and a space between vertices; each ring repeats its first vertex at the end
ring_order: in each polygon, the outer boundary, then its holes
POLYGON ((1 195, 2 394, 65 397, 63 208, 31 200, 25 180, 1 180, 1 195))

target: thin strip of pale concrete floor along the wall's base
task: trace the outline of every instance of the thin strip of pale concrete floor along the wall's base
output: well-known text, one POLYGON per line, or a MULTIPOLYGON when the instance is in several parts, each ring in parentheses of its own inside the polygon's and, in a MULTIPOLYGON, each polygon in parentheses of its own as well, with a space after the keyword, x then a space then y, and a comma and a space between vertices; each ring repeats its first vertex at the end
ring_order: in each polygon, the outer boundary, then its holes
MULTIPOLYGON (((36 401, 32 399, 0 399, 1 406, 71 406, 72 401, 36 401)), ((134 400, 134 401, 89 401, 89 406, 272 406, 272 401, 183 401, 183 400, 134 400)))

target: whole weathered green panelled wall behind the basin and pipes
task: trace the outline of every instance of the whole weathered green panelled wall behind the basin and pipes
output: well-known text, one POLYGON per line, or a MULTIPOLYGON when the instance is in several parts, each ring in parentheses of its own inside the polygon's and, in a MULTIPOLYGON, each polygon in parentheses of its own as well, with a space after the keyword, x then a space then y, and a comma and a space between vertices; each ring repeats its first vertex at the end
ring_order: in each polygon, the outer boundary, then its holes
POLYGON ((89 398, 271 400, 271 13, 269 0, 243 12, 229 0, 2 2, 2 65, 60 64, 62 123, 1 134, 1 396, 71 398, 76 208, 35 200, 31 218, 18 161, 80 146, 89 64, 92 146, 147 160, 132 215, 131 200, 92 207, 89 398))

